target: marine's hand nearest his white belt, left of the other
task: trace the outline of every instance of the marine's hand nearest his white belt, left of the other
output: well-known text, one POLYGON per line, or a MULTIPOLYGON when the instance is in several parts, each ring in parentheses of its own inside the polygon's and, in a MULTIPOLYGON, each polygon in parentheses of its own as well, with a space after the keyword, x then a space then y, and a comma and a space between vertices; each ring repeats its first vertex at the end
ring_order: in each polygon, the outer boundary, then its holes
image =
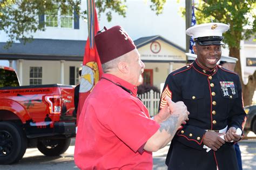
POLYGON ((211 149, 213 149, 213 151, 217 151, 217 149, 225 144, 225 140, 221 139, 220 135, 223 135, 223 133, 206 131, 203 139, 204 145, 210 147, 211 149))

